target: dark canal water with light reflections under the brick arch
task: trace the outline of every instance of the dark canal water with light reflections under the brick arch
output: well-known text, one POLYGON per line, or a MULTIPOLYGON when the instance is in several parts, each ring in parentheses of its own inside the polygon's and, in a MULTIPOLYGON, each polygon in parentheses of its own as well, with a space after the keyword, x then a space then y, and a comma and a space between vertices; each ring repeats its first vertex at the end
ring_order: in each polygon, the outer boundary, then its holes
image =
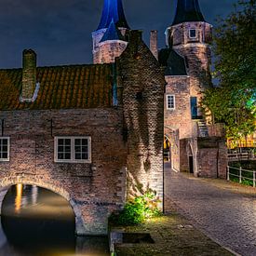
POLYGON ((2 205, 0 256, 109 255, 104 236, 74 236, 74 211, 49 190, 15 185, 2 205))

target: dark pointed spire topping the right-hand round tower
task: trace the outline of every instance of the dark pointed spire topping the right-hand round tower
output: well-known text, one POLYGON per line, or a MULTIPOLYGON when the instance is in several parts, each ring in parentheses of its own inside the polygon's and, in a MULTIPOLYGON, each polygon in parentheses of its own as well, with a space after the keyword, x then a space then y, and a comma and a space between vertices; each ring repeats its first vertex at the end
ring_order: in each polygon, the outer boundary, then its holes
POLYGON ((172 26, 189 21, 205 21, 198 0, 177 0, 176 15, 172 26))

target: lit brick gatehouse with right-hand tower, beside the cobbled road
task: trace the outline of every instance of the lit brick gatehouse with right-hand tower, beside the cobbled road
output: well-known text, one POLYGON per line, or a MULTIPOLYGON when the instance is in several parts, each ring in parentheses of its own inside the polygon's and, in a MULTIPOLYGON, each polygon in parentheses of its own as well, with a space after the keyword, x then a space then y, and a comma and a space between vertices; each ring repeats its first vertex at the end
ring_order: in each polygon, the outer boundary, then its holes
POLYGON ((177 1, 174 20, 166 30, 167 47, 158 55, 159 63, 165 68, 167 84, 165 157, 178 171, 224 178, 225 141, 222 133, 208 126, 200 110, 204 91, 211 87, 211 29, 197 0, 177 1))

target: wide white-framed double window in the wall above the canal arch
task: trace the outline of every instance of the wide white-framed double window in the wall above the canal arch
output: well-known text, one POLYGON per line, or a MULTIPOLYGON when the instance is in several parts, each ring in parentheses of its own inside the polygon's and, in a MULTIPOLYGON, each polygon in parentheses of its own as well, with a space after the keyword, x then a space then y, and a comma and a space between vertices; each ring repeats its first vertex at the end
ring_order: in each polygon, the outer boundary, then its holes
POLYGON ((54 161, 57 163, 91 163, 91 138, 55 137, 54 161))

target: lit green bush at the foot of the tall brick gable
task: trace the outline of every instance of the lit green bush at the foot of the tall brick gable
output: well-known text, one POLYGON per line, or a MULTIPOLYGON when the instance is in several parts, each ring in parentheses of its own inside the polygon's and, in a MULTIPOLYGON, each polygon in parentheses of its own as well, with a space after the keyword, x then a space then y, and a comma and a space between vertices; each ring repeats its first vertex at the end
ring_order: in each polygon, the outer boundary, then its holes
POLYGON ((148 191, 128 201, 119 214, 111 215, 110 222, 119 225, 138 225, 149 218, 161 215, 161 211, 157 209, 157 202, 155 193, 148 191))

